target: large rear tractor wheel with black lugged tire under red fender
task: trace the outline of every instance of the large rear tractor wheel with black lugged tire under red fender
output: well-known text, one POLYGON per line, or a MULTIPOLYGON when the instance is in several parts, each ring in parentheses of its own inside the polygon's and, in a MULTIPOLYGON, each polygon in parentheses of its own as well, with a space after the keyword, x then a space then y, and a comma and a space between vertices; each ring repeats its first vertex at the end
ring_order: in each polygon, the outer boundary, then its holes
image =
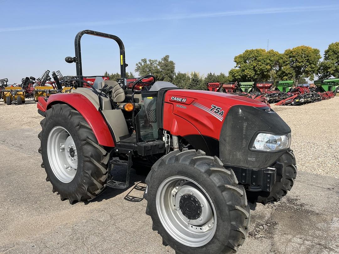
MULTIPOLYGON (((41 167, 45 168, 47 174, 46 181, 51 182, 53 192, 60 194, 62 201, 68 199, 70 204, 80 201, 85 202, 99 195, 106 187, 109 153, 98 144, 93 130, 82 115, 68 105, 56 104, 46 110, 45 118, 40 122, 40 125, 42 131, 38 137, 41 141, 41 147, 39 148, 43 161, 41 167), (62 170, 62 167, 61 169, 57 167, 59 164, 56 162, 52 165, 52 169, 50 163, 53 163, 55 160, 49 160, 48 157, 48 155, 52 156, 54 154, 52 152, 48 154, 48 151, 53 150, 48 148, 47 145, 49 144, 49 147, 53 147, 50 144, 53 144, 52 134, 56 128, 64 129, 63 133, 67 134, 68 132, 75 146, 77 168, 75 169, 76 172, 73 179, 68 178, 68 181, 61 181, 64 179, 61 178, 62 174, 67 174, 66 169, 63 169, 64 172, 58 173, 60 172, 58 170, 62 170), (52 134, 50 135, 50 133, 52 134), (47 143, 48 139, 51 140, 49 143, 47 143)), ((55 143, 57 149, 61 149, 58 142, 55 143)), ((69 147, 64 147, 64 149, 71 151, 69 147)), ((74 155, 74 150, 72 152, 74 155)))

